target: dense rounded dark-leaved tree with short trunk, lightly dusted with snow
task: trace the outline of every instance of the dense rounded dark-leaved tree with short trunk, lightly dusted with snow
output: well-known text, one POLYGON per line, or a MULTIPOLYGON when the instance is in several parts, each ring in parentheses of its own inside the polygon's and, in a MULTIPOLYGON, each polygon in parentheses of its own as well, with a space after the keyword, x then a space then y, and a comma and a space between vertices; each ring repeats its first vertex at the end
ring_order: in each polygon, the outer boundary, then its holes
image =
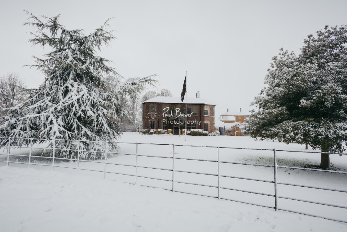
MULTIPOLYGON (((304 40, 298 57, 280 49, 243 127, 254 138, 343 152, 347 140, 347 27, 326 26, 304 40)), ((322 168, 330 167, 321 154, 322 168)))

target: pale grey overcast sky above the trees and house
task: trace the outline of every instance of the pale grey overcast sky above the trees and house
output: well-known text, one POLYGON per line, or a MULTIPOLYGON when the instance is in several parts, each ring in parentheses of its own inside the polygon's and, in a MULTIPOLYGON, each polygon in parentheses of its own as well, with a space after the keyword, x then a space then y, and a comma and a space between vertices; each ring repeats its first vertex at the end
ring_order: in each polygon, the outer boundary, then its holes
POLYGON ((22 67, 32 47, 22 26, 28 15, 53 16, 67 29, 89 34, 108 18, 117 39, 101 56, 125 78, 158 74, 159 86, 180 96, 188 71, 187 94, 216 106, 218 116, 248 112, 264 87, 271 57, 279 48, 299 53, 308 34, 325 25, 347 24, 347 1, 2 1, 0 7, 0 75, 19 73, 27 87, 37 88, 43 74, 22 67))

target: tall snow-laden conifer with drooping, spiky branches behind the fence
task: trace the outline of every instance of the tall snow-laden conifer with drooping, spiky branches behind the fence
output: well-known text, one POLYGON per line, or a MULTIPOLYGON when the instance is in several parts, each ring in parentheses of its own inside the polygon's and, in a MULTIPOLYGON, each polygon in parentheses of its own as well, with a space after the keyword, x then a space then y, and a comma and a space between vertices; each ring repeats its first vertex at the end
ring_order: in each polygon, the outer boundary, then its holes
MULTIPOLYGON (((31 32, 33 45, 49 46, 51 51, 45 59, 37 58, 35 67, 44 73, 44 81, 37 92, 22 104, 9 109, 2 118, 1 137, 14 139, 13 145, 29 144, 29 138, 81 139, 81 158, 95 159, 104 156, 96 151, 104 150, 104 142, 114 141, 121 134, 119 119, 129 117, 129 112, 118 103, 120 96, 132 94, 146 84, 153 84, 153 76, 139 78, 133 82, 119 82, 108 89, 103 76, 118 76, 107 66, 110 61, 96 55, 103 45, 114 39, 108 31, 107 22, 89 35, 82 29, 67 30, 58 22, 59 15, 39 17, 27 12, 32 22, 25 25, 35 27, 31 32), (116 119, 116 122, 110 120, 116 119), (96 141, 96 142, 90 142, 96 141)), ((43 142, 33 140, 35 142, 43 142)), ((1 140, 1 145, 8 139, 1 140)), ((56 140, 57 148, 77 149, 78 141, 56 140)), ((51 140, 49 147, 52 147, 51 140)), ((117 149, 110 144, 110 149, 117 149)), ((76 154, 56 150, 57 157, 74 158, 76 154)))

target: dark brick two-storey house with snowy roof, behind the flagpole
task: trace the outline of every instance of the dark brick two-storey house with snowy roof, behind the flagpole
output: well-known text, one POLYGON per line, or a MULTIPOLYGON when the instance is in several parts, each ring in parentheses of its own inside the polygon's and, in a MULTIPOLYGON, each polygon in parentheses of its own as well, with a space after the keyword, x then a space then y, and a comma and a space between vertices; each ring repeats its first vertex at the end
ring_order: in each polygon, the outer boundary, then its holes
MULTIPOLYGON (((197 91, 196 98, 187 98, 187 130, 203 129, 209 133, 214 131, 214 107, 215 104, 200 98, 200 92, 197 91)), ((185 114, 185 100, 180 101, 180 97, 158 96, 144 101, 142 104, 142 127, 158 129, 172 129, 172 134, 178 135, 180 129, 185 125, 179 126, 179 114, 185 114), (176 112, 175 109, 180 109, 176 112), (171 117, 170 117, 171 115, 171 117)), ((181 117, 184 118, 184 117, 181 117)), ((185 118, 183 119, 185 122, 185 118)))

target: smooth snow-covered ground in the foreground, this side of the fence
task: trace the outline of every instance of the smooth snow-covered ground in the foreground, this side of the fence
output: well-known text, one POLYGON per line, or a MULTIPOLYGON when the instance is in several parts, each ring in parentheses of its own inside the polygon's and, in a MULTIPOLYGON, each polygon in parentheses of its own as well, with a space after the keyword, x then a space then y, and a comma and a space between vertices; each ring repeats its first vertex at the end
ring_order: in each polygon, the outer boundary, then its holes
POLYGON ((0 168, 0 231, 346 231, 344 223, 34 168, 0 168))

